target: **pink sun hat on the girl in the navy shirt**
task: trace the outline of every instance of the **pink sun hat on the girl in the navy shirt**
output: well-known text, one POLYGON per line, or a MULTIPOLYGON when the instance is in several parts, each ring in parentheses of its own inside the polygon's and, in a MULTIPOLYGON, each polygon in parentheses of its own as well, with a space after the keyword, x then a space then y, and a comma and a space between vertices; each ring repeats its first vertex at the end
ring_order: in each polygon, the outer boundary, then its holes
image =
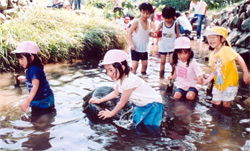
POLYGON ((29 53, 29 54, 37 54, 39 51, 38 45, 33 41, 24 41, 21 42, 16 50, 12 51, 11 53, 29 53))

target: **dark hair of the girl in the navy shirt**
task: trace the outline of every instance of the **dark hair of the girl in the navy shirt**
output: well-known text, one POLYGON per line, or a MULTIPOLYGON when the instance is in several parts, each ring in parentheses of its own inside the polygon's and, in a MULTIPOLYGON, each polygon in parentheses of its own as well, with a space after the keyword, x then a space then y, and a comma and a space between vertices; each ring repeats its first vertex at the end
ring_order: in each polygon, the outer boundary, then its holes
POLYGON ((35 65, 37 67, 40 67, 43 69, 43 63, 41 61, 41 59, 37 56, 37 54, 29 54, 29 53, 17 53, 16 54, 16 58, 22 58, 22 57, 26 57, 27 59, 27 69, 30 68, 32 65, 35 65), (31 55, 34 56, 34 60, 32 61, 31 59, 31 55))

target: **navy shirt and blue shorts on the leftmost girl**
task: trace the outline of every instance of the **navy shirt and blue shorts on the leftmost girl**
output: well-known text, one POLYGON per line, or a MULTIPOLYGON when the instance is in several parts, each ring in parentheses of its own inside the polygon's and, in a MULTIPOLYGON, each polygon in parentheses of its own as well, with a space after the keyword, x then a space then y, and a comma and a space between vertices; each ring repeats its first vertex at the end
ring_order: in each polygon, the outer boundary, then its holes
POLYGON ((26 76, 26 86, 31 91, 33 85, 32 80, 37 79, 39 80, 39 88, 35 97, 33 98, 30 106, 37 106, 40 108, 48 108, 54 106, 54 96, 53 91, 51 90, 49 83, 46 79, 46 75, 42 68, 32 65, 29 69, 25 72, 26 76))

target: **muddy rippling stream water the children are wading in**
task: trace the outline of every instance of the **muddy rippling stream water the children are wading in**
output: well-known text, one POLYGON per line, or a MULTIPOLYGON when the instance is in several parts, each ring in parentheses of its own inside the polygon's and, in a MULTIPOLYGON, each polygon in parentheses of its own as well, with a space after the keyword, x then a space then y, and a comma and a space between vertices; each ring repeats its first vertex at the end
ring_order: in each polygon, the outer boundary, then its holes
MULTIPOLYGON (((193 42, 195 59, 208 71, 207 45, 193 42)), ((137 135, 111 123, 89 119, 82 109, 82 98, 96 87, 113 86, 99 68, 81 63, 52 64, 45 72, 55 94, 56 114, 30 121, 18 104, 27 97, 24 84, 14 86, 13 74, 0 78, 0 150, 248 150, 250 146, 249 108, 241 101, 249 87, 241 85, 231 110, 214 108, 204 86, 193 102, 173 101, 166 78, 159 79, 160 59, 152 47, 148 75, 143 77, 164 99, 165 115, 161 137, 137 135)), ((138 72, 138 75, 139 72, 138 72)))

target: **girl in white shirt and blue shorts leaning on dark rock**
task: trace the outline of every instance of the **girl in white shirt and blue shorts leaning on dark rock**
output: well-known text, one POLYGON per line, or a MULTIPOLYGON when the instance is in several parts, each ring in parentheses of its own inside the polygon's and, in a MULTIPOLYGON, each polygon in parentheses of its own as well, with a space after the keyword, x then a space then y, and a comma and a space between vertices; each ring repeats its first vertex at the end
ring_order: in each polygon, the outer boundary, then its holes
POLYGON ((127 54, 122 50, 109 50, 101 65, 104 65, 107 75, 116 82, 115 90, 105 97, 91 98, 89 103, 102 103, 117 97, 121 93, 121 99, 112 111, 100 111, 99 118, 106 119, 113 117, 130 100, 136 105, 133 114, 133 122, 136 130, 146 127, 148 131, 159 130, 162 121, 163 104, 162 98, 145 81, 130 73, 126 61, 127 54), (149 128, 149 129, 148 129, 149 128), (152 129, 151 129, 152 128, 152 129))

